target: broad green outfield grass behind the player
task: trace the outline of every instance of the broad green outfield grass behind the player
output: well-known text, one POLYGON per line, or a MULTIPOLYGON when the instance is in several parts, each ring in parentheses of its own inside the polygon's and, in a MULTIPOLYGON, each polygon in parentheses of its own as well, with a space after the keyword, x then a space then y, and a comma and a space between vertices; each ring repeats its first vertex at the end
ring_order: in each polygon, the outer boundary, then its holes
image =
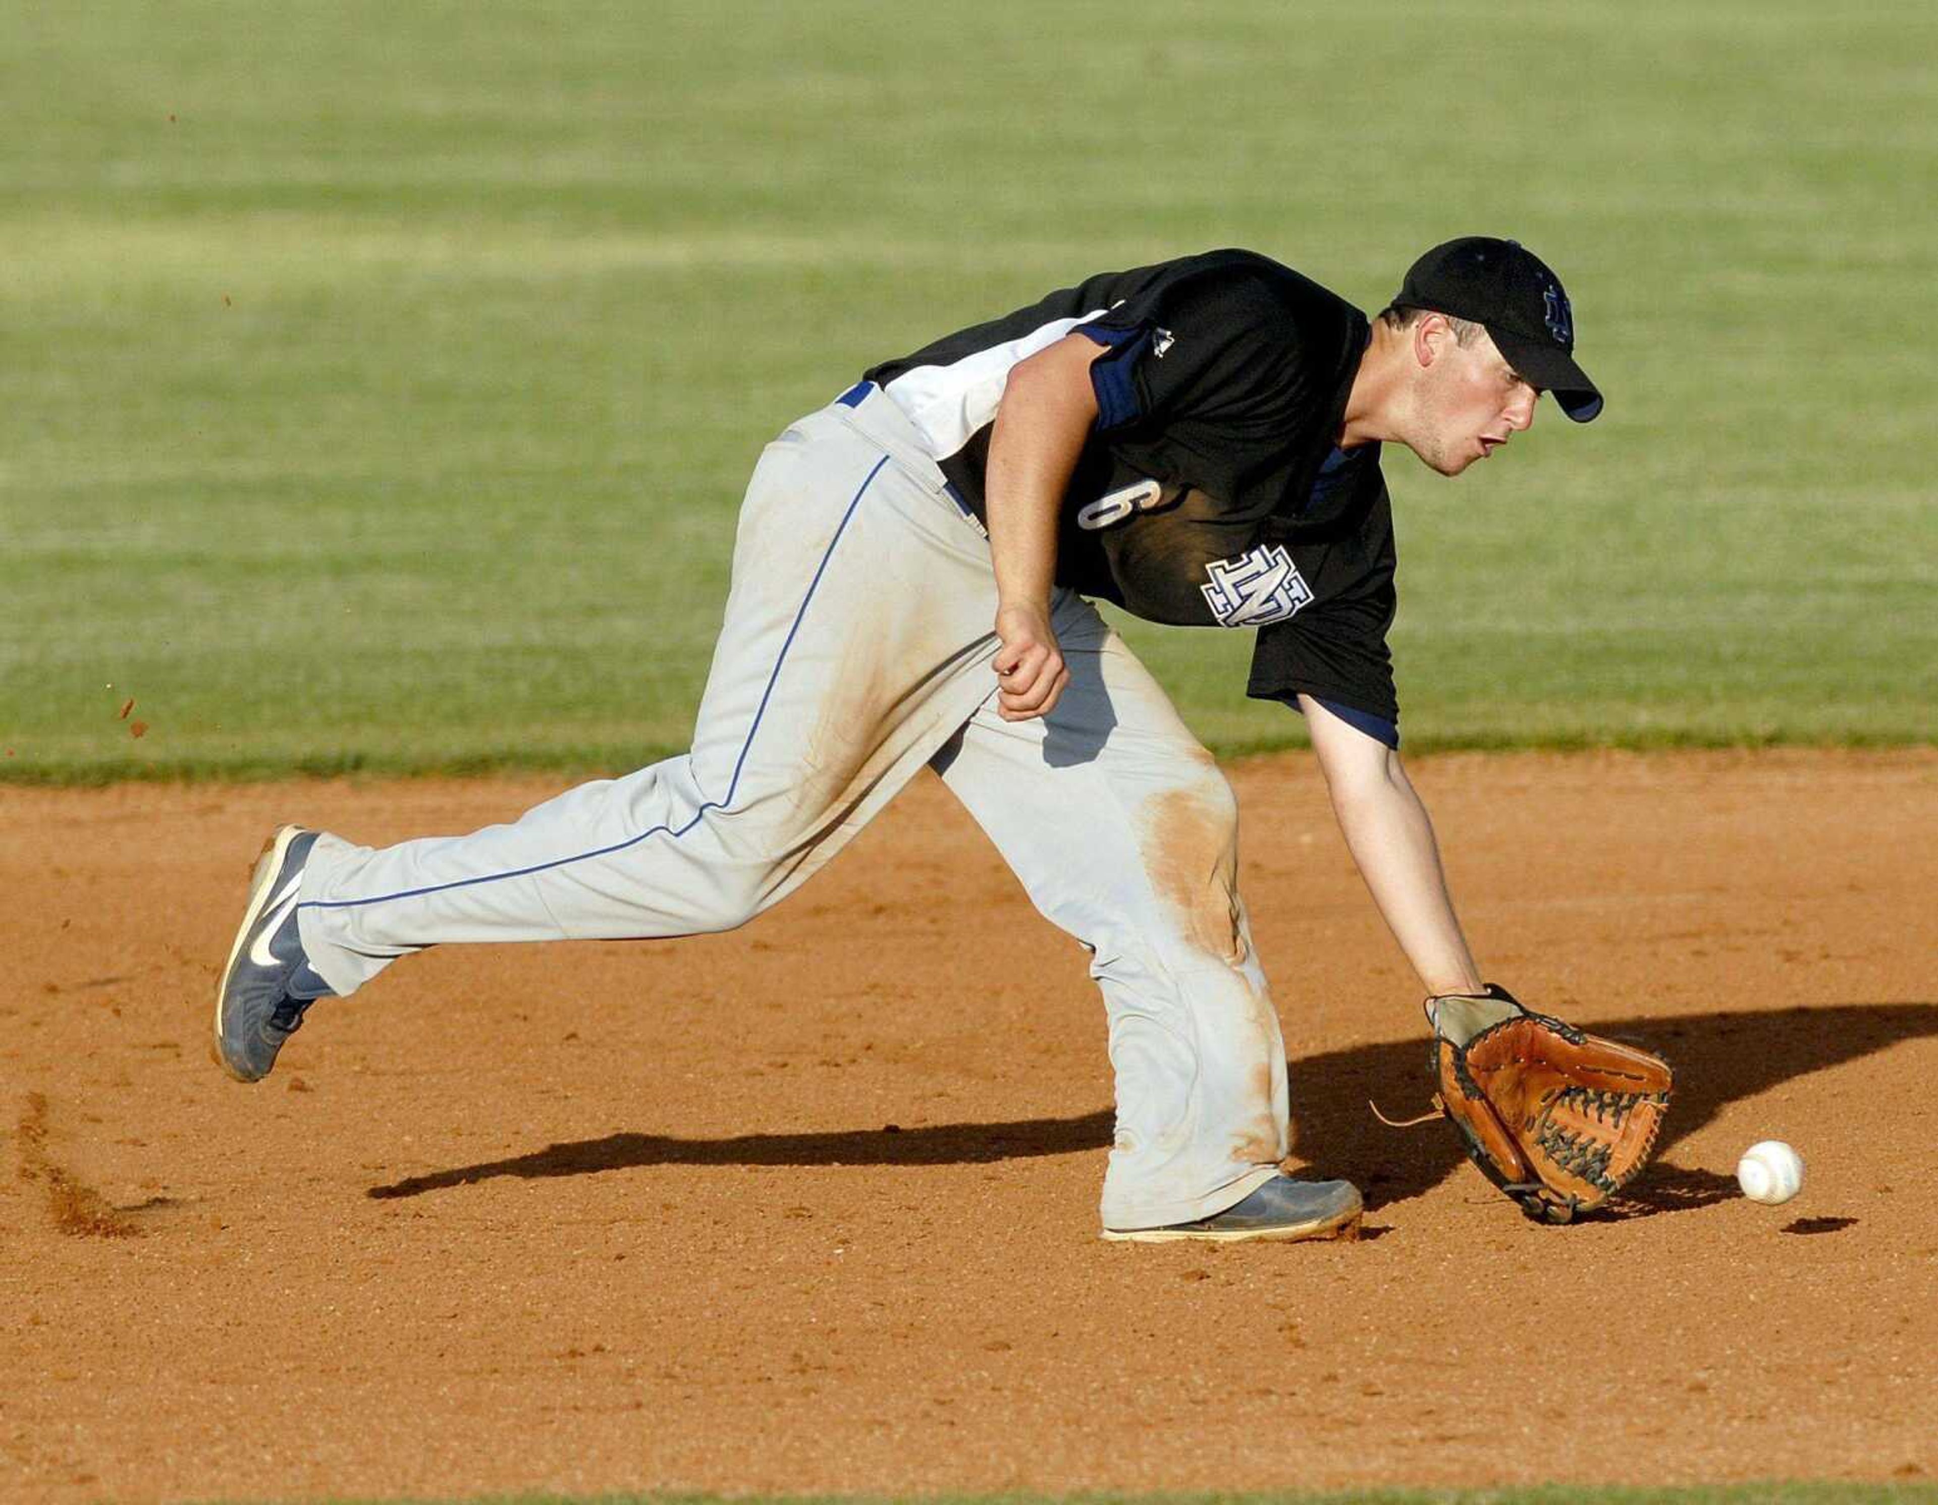
MULTIPOLYGON (((1926 0, 8 8, 0 777, 636 765, 754 455, 870 360, 1215 244, 1370 310, 1475 230, 1609 413, 1390 459, 1409 746, 1928 740, 1934 52, 1926 0)), ((1134 637, 1217 748, 1298 734, 1240 635, 1134 637)))

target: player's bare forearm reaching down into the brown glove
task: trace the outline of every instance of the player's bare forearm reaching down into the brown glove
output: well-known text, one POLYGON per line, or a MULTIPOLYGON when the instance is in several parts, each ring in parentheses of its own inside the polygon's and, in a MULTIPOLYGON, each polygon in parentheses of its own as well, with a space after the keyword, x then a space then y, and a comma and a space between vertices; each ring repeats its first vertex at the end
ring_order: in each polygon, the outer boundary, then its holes
POLYGON ((1448 893, 1426 806, 1399 753, 1298 697, 1345 845, 1428 994, 1477 994, 1481 972, 1448 893))

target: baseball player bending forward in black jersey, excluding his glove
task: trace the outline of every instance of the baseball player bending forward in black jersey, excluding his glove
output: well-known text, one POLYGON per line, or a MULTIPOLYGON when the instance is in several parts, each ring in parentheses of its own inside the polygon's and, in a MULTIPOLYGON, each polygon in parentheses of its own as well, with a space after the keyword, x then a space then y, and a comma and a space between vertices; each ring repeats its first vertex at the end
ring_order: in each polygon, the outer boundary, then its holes
POLYGON ((692 752, 510 825, 372 850, 283 827, 215 1001, 264 1077, 320 998, 450 941, 744 924, 936 769, 1109 1015, 1112 1240, 1326 1238, 1295 1180, 1279 1017, 1211 755, 1103 622, 1256 630, 1246 693, 1306 717, 1345 841, 1432 996, 1485 998, 1399 761, 1384 444, 1459 475, 1601 395, 1512 240, 1422 256, 1368 322, 1219 250, 1091 277, 888 360, 766 447, 692 752))

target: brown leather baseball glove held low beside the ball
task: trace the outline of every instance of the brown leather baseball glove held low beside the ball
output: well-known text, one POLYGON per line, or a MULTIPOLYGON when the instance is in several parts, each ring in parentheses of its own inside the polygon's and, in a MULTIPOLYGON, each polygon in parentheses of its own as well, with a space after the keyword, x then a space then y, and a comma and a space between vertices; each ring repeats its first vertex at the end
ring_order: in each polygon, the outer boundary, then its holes
POLYGON ((1436 1106, 1535 1222, 1601 1207, 1647 1164, 1669 1063, 1523 1009, 1506 988, 1426 999, 1436 1106))

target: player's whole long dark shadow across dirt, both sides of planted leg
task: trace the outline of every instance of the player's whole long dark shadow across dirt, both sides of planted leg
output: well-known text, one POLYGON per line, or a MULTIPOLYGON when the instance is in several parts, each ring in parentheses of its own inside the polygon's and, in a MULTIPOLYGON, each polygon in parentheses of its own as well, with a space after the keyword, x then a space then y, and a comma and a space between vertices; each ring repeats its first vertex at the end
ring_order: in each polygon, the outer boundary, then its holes
MULTIPOLYGON (((1762 1013, 1700 1013, 1674 1019, 1581 1019, 1597 1034, 1640 1040, 1669 1058, 1676 1098, 1653 1164, 1630 1195, 1599 1220, 1682 1213, 1738 1195, 1735 1176, 1672 1164, 1667 1154, 1709 1123, 1727 1102, 1876 1050, 1938 1034, 1938 1003, 1843 1003, 1762 1013)), ((1428 1123, 1384 1127, 1366 1108, 1388 1114, 1426 1108, 1426 1042, 1355 1046, 1293 1063, 1293 1143, 1318 1172, 1357 1182, 1368 1209, 1430 1191, 1461 1162, 1452 1131, 1428 1123), (1409 1098, 1409 1094, 1415 1094, 1409 1098)), ((839 1129, 829 1133, 750 1133, 733 1139, 678 1139, 614 1133, 548 1145, 531 1154, 453 1166, 374 1185, 376 1199, 417 1197, 500 1176, 541 1180, 591 1176, 634 1166, 940 1166, 988 1164, 1041 1154, 1101 1151, 1110 1145, 1112 1112, 1031 1118, 1010 1123, 928 1123, 921 1127, 839 1129)))

